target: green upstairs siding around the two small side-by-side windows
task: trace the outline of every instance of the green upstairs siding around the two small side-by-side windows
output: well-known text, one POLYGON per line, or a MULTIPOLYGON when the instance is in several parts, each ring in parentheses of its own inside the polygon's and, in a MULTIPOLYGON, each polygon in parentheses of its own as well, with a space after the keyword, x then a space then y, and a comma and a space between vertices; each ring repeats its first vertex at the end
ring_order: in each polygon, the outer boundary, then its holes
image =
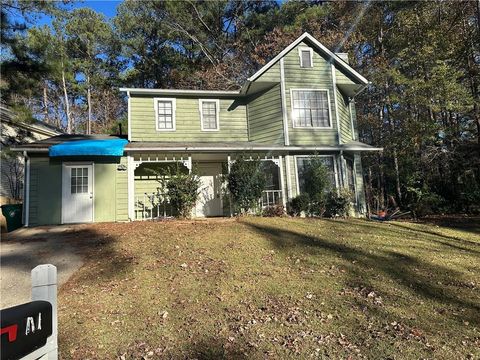
POLYGON ((202 131, 199 99, 176 98, 176 130, 157 131, 154 96, 130 99, 133 141, 248 141, 246 106, 220 100, 220 130, 202 131))

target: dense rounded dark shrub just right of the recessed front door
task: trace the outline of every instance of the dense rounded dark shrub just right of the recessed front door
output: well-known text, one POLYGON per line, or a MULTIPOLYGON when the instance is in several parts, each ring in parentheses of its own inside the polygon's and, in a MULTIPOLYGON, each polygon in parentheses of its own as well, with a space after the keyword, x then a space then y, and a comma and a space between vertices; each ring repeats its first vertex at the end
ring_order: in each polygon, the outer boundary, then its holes
POLYGON ((234 206, 241 213, 246 213, 257 205, 265 188, 266 178, 260 161, 247 161, 240 157, 232 164, 227 182, 234 206))

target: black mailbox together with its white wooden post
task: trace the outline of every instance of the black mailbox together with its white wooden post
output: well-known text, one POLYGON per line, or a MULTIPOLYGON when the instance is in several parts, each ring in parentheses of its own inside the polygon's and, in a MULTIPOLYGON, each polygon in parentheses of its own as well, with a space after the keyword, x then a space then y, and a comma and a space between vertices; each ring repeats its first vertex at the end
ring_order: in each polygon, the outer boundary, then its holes
POLYGON ((1 359, 56 360, 57 268, 32 270, 32 302, 1 310, 1 359))

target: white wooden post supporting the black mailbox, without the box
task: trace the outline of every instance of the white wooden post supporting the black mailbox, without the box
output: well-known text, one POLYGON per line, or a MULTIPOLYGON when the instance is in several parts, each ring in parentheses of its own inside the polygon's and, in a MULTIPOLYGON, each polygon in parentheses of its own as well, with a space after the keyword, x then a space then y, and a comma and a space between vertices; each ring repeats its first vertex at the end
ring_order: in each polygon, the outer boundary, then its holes
POLYGON ((52 335, 47 339, 42 360, 58 358, 57 268, 51 264, 38 265, 32 270, 32 301, 45 300, 52 304, 52 335))

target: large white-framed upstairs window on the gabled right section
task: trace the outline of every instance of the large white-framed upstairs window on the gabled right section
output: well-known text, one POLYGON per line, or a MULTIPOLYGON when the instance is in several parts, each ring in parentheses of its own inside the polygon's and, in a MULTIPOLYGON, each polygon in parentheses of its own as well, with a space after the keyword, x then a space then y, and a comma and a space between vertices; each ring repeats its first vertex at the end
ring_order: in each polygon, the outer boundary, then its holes
POLYGON ((290 89, 294 128, 332 128, 330 94, 325 89, 290 89))

